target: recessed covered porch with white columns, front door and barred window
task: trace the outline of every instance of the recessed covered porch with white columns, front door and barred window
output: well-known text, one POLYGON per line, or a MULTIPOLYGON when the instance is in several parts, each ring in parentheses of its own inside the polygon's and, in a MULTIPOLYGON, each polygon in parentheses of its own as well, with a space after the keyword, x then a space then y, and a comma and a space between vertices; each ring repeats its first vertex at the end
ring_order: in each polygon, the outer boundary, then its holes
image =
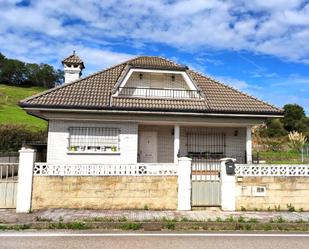
POLYGON ((193 165, 236 158, 252 161, 251 126, 151 124, 138 125, 139 163, 177 163, 189 157, 193 165))

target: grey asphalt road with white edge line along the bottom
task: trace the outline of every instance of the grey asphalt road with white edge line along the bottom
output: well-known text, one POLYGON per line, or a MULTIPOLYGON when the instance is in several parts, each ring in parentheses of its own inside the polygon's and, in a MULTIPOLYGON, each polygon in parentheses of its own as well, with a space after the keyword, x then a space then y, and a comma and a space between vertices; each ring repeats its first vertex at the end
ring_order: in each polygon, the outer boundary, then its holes
POLYGON ((309 234, 0 233, 1 249, 308 249, 309 234))

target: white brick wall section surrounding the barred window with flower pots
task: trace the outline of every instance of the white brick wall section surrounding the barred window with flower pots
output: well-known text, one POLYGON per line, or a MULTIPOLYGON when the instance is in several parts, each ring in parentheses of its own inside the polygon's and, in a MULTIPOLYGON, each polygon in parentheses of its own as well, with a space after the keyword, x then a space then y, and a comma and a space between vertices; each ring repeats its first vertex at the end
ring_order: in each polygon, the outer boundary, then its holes
POLYGON ((47 163, 104 164, 137 163, 138 125, 130 122, 80 122, 50 120, 47 144, 47 163), (115 127, 120 129, 119 153, 71 152, 70 127, 115 127))

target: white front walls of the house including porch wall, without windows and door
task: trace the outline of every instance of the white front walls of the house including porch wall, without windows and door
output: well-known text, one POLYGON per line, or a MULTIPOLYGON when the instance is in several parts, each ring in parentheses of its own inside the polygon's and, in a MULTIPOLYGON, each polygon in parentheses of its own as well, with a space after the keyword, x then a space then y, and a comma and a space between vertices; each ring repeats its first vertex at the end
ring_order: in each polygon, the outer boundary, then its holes
MULTIPOLYGON (((225 155, 246 155, 246 128, 185 127, 172 125, 139 125, 134 122, 82 122, 50 120, 47 146, 48 163, 137 163, 142 145, 139 136, 154 132, 156 139, 156 163, 177 163, 177 154, 187 156, 187 133, 222 133, 225 135, 225 155), (76 152, 69 150, 69 128, 111 127, 119 128, 119 152, 76 152), (178 149, 179 148, 179 149, 178 149)), ((214 141, 213 141, 214 142, 214 141)), ((247 148, 249 149, 249 148, 247 148)), ((251 154, 250 152, 247 154, 251 154)))

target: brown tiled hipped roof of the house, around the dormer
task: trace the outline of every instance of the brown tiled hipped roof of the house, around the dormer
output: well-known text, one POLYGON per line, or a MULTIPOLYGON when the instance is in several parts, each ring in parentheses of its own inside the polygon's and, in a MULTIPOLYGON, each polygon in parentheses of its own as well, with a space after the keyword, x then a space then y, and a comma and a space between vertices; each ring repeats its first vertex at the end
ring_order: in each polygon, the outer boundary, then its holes
POLYGON ((20 102, 22 107, 118 109, 177 112, 281 114, 268 103, 244 94, 211 78, 161 57, 142 56, 75 82, 50 89, 20 102), (159 99, 111 97, 111 92, 127 69, 152 68, 186 70, 203 99, 159 99))

